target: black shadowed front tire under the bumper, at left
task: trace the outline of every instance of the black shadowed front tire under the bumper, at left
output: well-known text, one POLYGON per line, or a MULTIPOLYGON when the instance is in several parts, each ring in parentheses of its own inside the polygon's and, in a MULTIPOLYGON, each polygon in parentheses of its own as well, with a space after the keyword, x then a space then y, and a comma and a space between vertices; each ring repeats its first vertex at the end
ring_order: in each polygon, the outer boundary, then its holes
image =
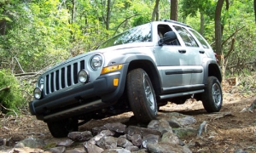
POLYGON ((49 132, 55 138, 67 137, 67 134, 79 130, 78 120, 66 119, 55 122, 47 122, 49 132))

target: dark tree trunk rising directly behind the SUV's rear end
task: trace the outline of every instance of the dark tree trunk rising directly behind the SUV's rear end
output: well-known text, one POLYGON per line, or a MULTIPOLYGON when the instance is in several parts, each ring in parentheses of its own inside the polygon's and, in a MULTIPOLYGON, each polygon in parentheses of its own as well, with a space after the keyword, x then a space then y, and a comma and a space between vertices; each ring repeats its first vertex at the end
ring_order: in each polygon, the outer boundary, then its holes
POLYGON ((221 9, 224 4, 224 0, 218 0, 216 9, 215 9, 215 48, 216 54, 218 54, 219 63, 222 64, 222 26, 221 26, 221 9), (220 57, 220 58, 219 58, 220 57))

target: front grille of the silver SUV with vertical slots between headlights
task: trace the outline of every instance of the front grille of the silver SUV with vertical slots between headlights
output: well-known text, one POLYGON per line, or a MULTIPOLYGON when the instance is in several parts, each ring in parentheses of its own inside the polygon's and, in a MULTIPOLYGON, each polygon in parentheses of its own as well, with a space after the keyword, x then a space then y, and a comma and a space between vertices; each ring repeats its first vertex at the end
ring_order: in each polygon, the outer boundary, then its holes
POLYGON ((79 82, 78 72, 85 67, 84 60, 61 67, 45 77, 45 94, 51 94, 55 91, 67 88, 79 82))

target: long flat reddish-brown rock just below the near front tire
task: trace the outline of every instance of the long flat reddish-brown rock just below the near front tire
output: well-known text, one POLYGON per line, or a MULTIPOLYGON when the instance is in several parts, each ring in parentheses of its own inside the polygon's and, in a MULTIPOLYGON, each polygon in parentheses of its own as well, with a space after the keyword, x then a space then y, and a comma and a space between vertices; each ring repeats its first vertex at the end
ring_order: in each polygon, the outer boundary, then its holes
POLYGON ((144 127, 134 127, 134 126, 129 126, 126 128, 125 133, 128 135, 134 135, 134 134, 140 134, 142 137, 148 135, 148 134, 154 134, 154 135, 159 135, 161 136, 160 131, 155 130, 155 129, 148 129, 144 127))

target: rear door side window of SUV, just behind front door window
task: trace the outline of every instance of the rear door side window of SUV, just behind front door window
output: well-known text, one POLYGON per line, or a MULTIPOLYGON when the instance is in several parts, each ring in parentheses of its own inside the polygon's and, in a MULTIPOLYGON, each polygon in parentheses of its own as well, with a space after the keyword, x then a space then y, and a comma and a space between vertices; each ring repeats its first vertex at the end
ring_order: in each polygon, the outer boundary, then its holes
POLYGON ((182 37, 183 42, 188 47, 198 47, 198 44, 195 42, 194 37, 192 37, 185 28, 180 26, 174 26, 180 37, 182 37))

